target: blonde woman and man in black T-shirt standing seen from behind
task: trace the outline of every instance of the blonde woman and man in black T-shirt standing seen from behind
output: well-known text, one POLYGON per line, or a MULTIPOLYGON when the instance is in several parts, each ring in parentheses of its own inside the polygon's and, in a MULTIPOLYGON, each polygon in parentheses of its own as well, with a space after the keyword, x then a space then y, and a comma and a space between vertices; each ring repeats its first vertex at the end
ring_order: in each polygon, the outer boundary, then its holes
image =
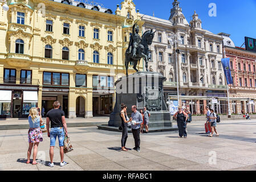
MULTIPOLYGON (((54 159, 54 147, 56 142, 56 137, 59 140, 59 148, 60 148, 60 166, 65 166, 67 163, 64 162, 64 137, 67 135, 67 124, 65 120, 65 113, 63 110, 59 109, 60 103, 59 101, 55 101, 53 104, 54 109, 51 109, 46 114, 46 128, 47 135, 50 137, 50 160, 48 166, 54 167, 53 159, 54 159), (51 131, 50 131, 50 122, 51 122, 51 131)), ((29 138, 29 149, 27 150, 27 164, 30 164, 30 156, 31 151, 34 146, 33 151, 33 160, 32 164, 38 164, 36 162, 36 155, 38 151, 39 142, 43 142, 43 133, 40 129, 40 125, 42 125, 43 120, 40 114, 40 109, 33 107, 29 111, 29 125, 30 129, 28 132, 29 138)))

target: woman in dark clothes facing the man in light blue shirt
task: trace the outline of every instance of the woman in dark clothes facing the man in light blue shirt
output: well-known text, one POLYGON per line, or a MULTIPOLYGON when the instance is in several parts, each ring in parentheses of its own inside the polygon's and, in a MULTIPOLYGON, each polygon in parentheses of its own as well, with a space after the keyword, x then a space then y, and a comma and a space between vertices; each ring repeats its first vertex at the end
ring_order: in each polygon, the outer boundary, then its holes
POLYGON ((122 138, 121 138, 121 146, 122 151, 128 151, 128 148, 125 147, 126 140, 128 138, 128 123, 132 121, 132 118, 127 117, 127 106, 122 104, 121 105, 121 112, 120 112, 120 118, 121 118, 121 126, 122 126, 122 138))

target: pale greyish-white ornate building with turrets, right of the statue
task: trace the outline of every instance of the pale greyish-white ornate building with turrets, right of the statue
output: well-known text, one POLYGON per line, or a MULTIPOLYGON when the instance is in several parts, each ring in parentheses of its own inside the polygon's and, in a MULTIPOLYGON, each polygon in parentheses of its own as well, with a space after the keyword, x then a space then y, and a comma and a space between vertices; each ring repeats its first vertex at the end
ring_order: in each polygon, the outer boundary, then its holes
POLYGON ((188 22, 180 2, 172 3, 169 19, 155 16, 143 16, 143 32, 156 31, 150 47, 151 61, 149 69, 160 72, 167 80, 164 85, 165 99, 177 100, 177 81, 179 85, 179 105, 189 109, 193 114, 204 114, 205 106, 213 107, 216 113, 227 113, 227 94, 224 71, 221 65, 222 36, 213 34, 202 28, 202 22, 194 11, 193 19, 188 22), (175 46, 170 46, 168 37, 178 33, 182 40, 175 46), (218 103, 212 104, 212 98, 218 103))

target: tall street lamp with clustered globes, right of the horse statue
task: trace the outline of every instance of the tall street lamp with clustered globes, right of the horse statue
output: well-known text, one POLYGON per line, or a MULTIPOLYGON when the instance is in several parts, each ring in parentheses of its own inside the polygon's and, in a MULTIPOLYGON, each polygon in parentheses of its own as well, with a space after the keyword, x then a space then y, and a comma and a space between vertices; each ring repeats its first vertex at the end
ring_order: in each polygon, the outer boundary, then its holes
POLYGON ((177 44, 182 44, 182 40, 178 35, 178 32, 174 34, 173 32, 168 36, 170 46, 175 44, 175 59, 176 59, 176 74, 177 74, 177 96, 178 96, 178 105, 180 105, 180 96, 178 94, 178 61, 177 61, 177 53, 180 53, 180 50, 177 49, 177 44))

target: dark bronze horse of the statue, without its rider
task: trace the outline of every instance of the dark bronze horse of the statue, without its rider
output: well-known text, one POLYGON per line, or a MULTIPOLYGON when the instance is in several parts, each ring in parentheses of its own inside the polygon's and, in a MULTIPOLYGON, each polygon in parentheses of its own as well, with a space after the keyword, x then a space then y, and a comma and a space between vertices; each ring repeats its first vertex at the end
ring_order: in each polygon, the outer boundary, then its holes
POLYGON ((138 70, 136 69, 136 66, 138 64, 140 64, 140 60, 141 58, 143 58, 145 60, 145 67, 147 72, 148 70, 148 60, 149 60, 149 48, 148 46, 150 46, 152 44, 153 38, 155 36, 155 32, 153 32, 152 30, 146 31, 142 38, 141 38, 141 44, 140 46, 137 48, 136 51, 136 57, 133 57, 132 53, 129 53, 129 47, 127 49, 127 51, 125 52, 125 68, 126 68, 126 75, 128 76, 128 66, 129 63, 131 61, 133 61, 133 69, 135 69, 136 72, 138 72, 138 70))

